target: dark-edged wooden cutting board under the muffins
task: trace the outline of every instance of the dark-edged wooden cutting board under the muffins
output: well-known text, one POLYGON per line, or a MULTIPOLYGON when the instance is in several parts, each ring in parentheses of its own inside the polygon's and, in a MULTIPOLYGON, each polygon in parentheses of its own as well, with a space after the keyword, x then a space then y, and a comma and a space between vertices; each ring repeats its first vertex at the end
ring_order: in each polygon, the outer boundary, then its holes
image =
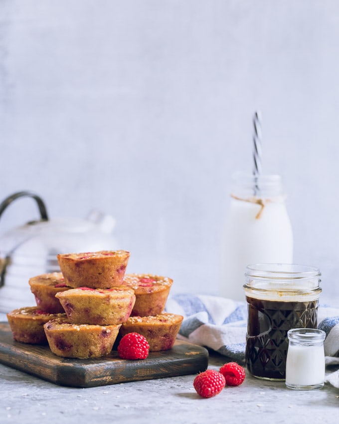
POLYGON ((208 352, 176 340, 172 349, 152 352, 144 360, 123 360, 117 351, 103 359, 61 358, 48 345, 16 342, 9 324, 0 322, 0 363, 60 386, 94 387, 197 374, 206 370, 208 352))

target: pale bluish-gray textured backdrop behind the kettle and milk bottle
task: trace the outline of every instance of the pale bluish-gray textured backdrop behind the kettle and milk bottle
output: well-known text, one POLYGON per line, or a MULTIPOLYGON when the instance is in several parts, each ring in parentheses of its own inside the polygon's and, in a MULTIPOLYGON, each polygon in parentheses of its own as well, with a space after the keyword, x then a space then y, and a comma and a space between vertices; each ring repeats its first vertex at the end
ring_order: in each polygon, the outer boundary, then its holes
MULTIPOLYGON (((339 296, 338 65, 335 0, 0 0, 0 196, 112 213, 129 271, 218 293, 230 176, 251 172, 260 109, 295 262, 339 296)), ((0 232, 34 216, 22 200, 0 232)))

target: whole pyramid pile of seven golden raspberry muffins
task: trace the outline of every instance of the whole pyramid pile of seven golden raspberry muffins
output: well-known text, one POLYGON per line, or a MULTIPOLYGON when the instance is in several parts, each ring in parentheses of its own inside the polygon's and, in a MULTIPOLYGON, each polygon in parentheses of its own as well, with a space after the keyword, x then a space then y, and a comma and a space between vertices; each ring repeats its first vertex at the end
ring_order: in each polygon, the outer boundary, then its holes
POLYGON ((130 332, 146 337, 150 352, 170 349, 183 317, 164 313, 172 280, 126 274, 126 250, 57 255, 61 272, 29 279, 36 307, 7 314, 14 340, 49 344, 67 358, 100 358, 130 332))

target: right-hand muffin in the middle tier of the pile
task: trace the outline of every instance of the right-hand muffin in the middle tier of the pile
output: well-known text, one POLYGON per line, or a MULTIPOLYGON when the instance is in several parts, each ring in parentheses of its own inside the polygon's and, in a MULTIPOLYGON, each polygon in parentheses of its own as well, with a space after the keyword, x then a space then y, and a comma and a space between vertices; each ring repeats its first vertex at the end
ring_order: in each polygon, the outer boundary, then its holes
POLYGON ((124 285, 134 290, 136 303, 131 316, 161 314, 166 306, 173 280, 151 274, 126 274, 124 285))

